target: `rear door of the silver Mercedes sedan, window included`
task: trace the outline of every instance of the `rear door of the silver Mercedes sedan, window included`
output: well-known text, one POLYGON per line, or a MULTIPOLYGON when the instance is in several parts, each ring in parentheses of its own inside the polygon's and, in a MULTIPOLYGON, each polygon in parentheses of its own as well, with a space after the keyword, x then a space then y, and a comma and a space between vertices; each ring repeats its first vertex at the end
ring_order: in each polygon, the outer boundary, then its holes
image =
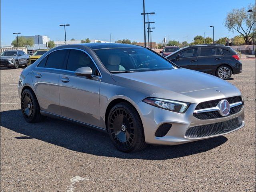
POLYGON ((32 72, 32 80, 41 110, 61 115, 59 76, 64 68, 67 50, 56 50, 46 56, 32 72))

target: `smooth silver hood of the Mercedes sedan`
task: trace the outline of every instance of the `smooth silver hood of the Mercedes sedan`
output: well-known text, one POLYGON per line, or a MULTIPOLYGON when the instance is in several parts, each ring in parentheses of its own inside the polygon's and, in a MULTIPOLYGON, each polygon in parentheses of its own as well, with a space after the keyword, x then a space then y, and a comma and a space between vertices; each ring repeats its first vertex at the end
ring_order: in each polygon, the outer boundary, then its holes
POLYGON ((215 76, 184 68, 112 74, 114 81, 153 93, 186 93, 233 86, 215 76))

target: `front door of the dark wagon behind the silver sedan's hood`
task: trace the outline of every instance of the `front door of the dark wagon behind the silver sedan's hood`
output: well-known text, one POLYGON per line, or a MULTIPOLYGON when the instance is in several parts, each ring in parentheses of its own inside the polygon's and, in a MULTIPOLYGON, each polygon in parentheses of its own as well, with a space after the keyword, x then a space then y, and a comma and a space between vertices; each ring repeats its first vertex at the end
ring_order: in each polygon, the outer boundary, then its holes
POLYGON ((197 52, 198 52, 197 47, 188 48, 186 50, 183 50, 183 51, 177 53, 180 55, 180 58, 178 60, 176 59, 177 54, 174 54, 173 56, 169 57, 168 59, 182 68, 195 70, 196 65, 197 65, 197 58, 198 58, 197 52))

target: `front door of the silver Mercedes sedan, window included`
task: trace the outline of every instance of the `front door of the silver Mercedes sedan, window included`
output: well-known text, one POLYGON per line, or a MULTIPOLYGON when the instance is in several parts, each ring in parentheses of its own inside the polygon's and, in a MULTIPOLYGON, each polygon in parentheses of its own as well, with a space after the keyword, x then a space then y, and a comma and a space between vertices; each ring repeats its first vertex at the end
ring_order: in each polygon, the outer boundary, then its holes
POLYGON ((92 58, 83 50, 70 49, 66 70, 59 76, 62 116, 100 127, 100 73, 92 58), (76 76, 81 67, 90 67, 93 76, 76 76))

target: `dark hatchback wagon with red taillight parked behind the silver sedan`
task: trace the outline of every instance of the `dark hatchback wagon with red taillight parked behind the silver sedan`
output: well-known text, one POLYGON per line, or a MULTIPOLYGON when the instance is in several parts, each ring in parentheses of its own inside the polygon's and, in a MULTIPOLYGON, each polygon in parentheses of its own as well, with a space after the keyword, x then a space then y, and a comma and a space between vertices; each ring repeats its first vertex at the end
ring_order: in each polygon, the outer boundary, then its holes
POLYGON ((208 73, 224 80, 242 72, 239 54, 222 44, 188 46, 166 58, 182 68, 208 73))

